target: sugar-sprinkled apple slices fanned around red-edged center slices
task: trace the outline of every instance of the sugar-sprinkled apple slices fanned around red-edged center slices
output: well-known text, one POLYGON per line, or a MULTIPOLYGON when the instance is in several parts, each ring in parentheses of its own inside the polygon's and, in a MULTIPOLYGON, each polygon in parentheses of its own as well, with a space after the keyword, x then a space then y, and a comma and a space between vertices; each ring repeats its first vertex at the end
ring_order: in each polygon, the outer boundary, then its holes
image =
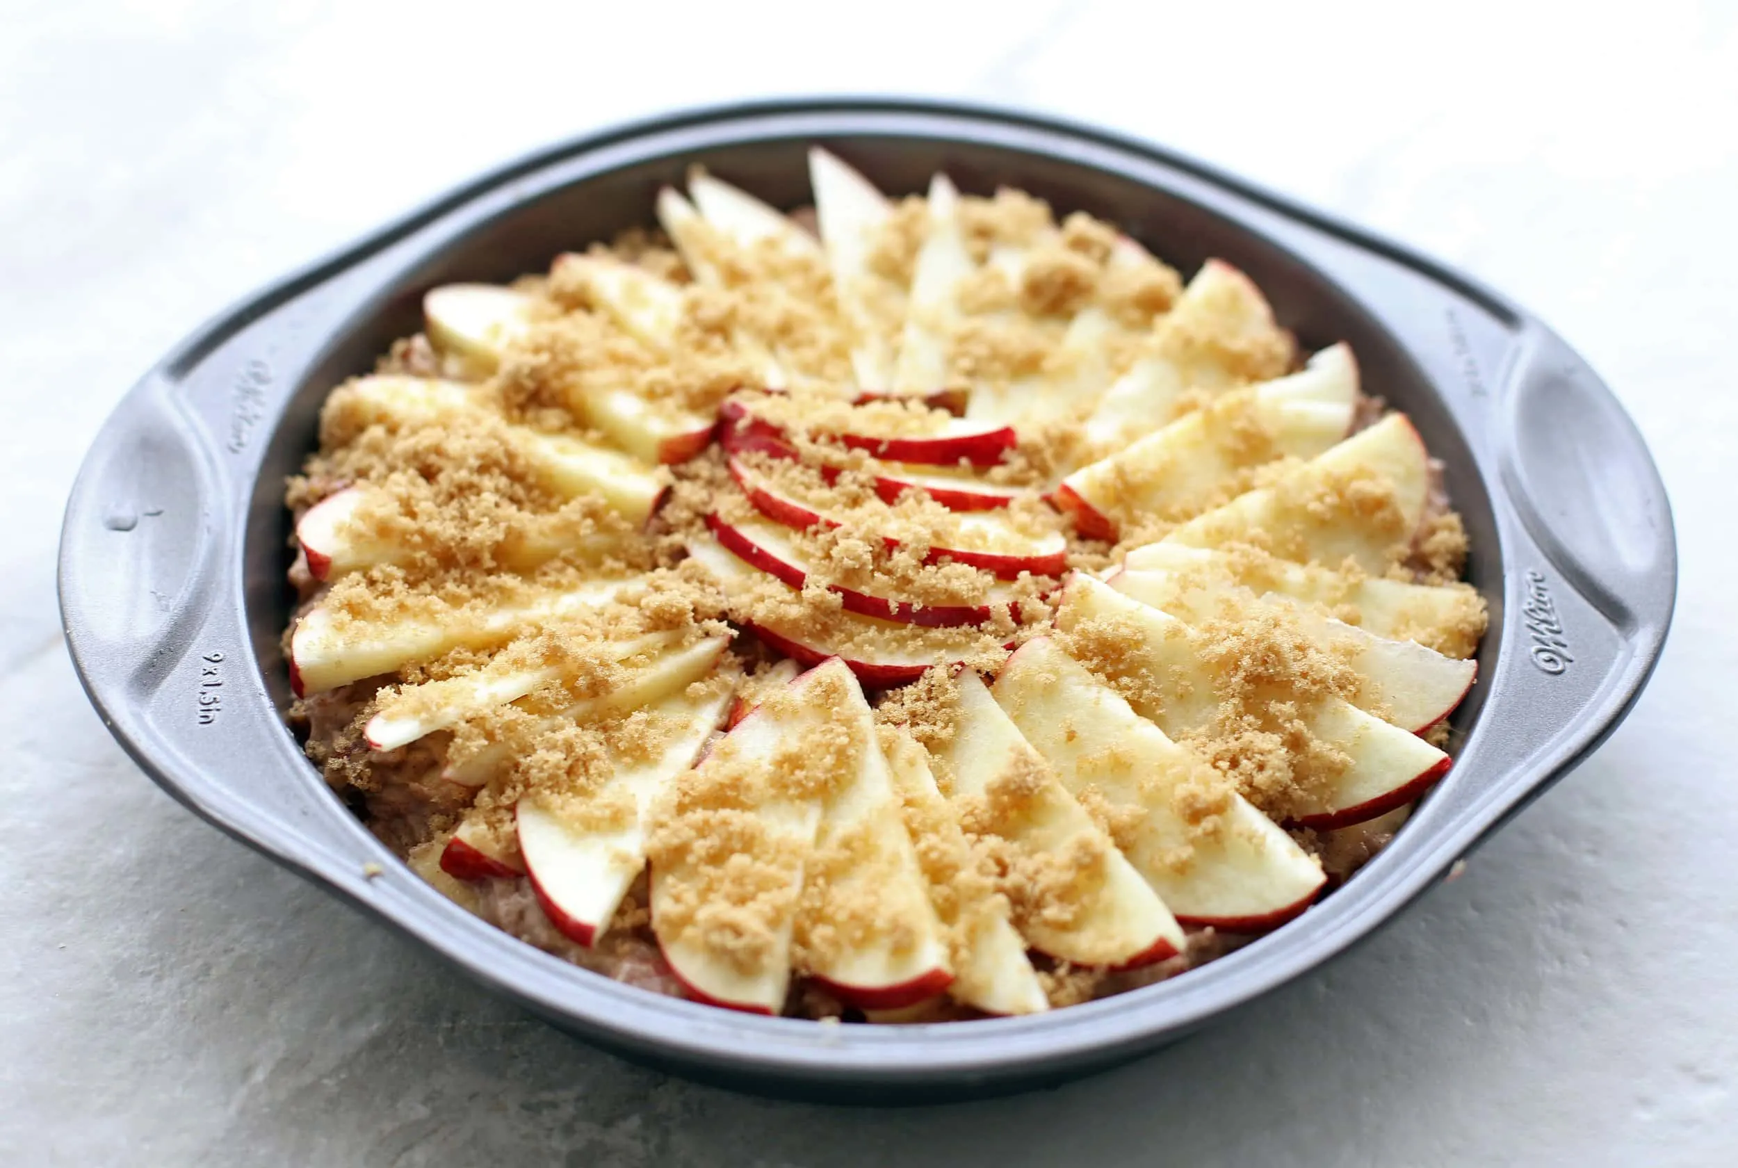
POLYGON ((1224 261, 810 163, 813 229, 697 172, 334 389, 309 754, 473 911, 756 1013, 1036 1013, 1307 911, 1476 676, 1416 431, 1224 261))

